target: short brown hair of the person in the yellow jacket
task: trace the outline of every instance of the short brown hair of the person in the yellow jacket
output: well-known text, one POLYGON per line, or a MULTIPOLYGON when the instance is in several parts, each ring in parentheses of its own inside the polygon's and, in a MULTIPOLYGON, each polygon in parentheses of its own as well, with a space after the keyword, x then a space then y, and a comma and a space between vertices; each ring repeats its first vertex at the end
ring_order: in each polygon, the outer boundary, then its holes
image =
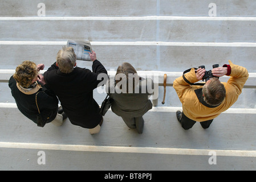
POLYGON ((214 77, 208 85, 204 85, 202 88, 202 93, 204 94, 204 101, 207 104, 217 106, 224 101, 226 89, 224 84, 222 84, 218 78, 214 77))

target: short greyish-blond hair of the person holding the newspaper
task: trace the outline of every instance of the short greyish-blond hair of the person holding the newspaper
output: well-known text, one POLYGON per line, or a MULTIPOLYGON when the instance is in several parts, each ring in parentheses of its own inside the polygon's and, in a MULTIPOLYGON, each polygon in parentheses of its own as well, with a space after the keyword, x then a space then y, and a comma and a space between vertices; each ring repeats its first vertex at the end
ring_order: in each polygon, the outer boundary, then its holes
POLYGON ((56 61, 60 72, 71 73, 74 70, 74 66, 76 63, 74 48, 64 46, 57 53, 56 61))

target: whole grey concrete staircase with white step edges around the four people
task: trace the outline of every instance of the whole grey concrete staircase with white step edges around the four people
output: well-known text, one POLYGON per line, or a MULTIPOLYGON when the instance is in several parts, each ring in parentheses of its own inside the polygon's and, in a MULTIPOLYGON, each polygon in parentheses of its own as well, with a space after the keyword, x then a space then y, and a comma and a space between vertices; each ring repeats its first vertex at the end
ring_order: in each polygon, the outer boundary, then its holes
MULTIPOLYGON (((215 1, 216 17, 209 16, 212 1, 46 0, 43 17, 39 3, 12 0, 0 6, 1 170, 256 169, 255 1, 215 1), (23 60, 47 69, 67 39, 90 40, 110 75, 124 61, 140 75, 159 75, 159 99, 144 115, 143 134, 128 129, 111 110, 96 135, 68 119, 61 127, 42 129, 19 112, 7 84, 14 69, 23 60), (182 108, 173 80, 185 69, 202 64, 212 69, 228 60, 250 73, 238 101, 209 129, 196 123, 185 131, 176 119, 182 108), (213 154, 216 164, 209 162, 213 154)), ((91 62, 78 66, 91 69, 91 62)), ((105 93, 95 89, 94 96, 100 105, 105 93)))

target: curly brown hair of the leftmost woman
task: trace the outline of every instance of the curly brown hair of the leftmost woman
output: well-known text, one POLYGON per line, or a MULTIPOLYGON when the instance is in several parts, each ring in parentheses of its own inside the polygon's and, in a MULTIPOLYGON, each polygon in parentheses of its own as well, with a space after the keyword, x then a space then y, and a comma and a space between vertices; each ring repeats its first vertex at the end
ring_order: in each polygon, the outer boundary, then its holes
POLYGON ((23 61, 22 64, 18 65, 15 69, 13 78, 16 80, 18 85, 23 88, 28 88, 32 84, 32 80, 38 75, 36 64, 32 61, 23 61))

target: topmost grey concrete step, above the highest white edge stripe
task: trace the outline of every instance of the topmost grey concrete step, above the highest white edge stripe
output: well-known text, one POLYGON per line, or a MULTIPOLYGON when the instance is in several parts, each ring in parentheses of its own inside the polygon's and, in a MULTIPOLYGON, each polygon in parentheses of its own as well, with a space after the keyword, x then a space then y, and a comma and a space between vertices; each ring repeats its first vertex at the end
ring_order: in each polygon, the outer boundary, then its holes
MULTIPOLYGON (((0 16, 37 16, 40 1, 3 1, 0 16)), ((208 16, 211 1, 43 1, 46 16, 208 16)), ((216 0, 217 16, 256 16, 255 1, 216 0)))

